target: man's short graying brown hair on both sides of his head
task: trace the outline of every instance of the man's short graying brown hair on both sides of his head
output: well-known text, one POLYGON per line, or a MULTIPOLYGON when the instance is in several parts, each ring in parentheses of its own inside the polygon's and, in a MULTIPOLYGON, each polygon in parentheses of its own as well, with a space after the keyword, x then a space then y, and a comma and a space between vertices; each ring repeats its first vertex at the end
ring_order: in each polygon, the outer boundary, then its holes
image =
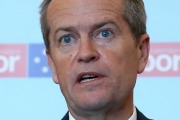
MULTIPOLYGON (((138 43, 142 34, 146 33, 146 12, 142 0, 123 0, 123 19, 128 23, 135 42, 138 43)), ((51 0, 43 0, 40 5, 40 23, 46 49, 49 50, 50 28, 47 21, 47 10, 51 0)))

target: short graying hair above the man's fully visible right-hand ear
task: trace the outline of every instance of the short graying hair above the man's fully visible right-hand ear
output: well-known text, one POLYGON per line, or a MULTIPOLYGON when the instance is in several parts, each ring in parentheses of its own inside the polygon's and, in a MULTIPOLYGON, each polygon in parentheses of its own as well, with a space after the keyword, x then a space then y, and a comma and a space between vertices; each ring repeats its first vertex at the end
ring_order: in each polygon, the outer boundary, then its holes
POLYGON ((123 19, 128 23, 133 37, 138 43, 142 34, 146 33, 146 11, 142 0, 124 0, 123 19))

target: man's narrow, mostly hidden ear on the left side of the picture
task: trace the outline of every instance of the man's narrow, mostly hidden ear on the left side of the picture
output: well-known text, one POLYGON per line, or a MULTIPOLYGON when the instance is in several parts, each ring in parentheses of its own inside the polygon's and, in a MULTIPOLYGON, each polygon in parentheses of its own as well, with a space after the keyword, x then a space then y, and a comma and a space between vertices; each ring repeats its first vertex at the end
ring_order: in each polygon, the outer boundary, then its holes
POLYGON ((51 69, 51 71, 52 71, 53 81, 54 81, 56 84, 59 84, 54 62, 53 62, 53 60, 52 60, 52 58, 51 58, 50 53, 49 53, 47 50, 46 50, 46 56, 47 56, 47 61, 48 61, 49 67, 50 67, 50 69, 51 69))

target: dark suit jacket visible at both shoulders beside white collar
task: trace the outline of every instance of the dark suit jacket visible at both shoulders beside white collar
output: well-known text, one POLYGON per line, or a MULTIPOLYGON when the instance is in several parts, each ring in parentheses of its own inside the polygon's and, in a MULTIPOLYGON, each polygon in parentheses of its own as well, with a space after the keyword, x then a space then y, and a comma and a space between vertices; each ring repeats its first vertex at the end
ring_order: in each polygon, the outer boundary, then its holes
MULTIPOLYGON (((150 120, 145 117, 138 109, 137 110, 137 120, 150 120)), ((69 113, 67 112, 66 115, 61 120, 69 120, 69 113)))

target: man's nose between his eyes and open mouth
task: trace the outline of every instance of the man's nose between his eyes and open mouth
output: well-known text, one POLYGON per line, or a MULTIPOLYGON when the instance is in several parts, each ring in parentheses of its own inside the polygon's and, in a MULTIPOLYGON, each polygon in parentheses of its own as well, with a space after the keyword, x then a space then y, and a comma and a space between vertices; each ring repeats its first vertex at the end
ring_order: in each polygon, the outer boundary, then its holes
POLYGON ((78 62, 94 62, 99 59, 97 46, 90 40, 81 41, 77 53, 78 62))

